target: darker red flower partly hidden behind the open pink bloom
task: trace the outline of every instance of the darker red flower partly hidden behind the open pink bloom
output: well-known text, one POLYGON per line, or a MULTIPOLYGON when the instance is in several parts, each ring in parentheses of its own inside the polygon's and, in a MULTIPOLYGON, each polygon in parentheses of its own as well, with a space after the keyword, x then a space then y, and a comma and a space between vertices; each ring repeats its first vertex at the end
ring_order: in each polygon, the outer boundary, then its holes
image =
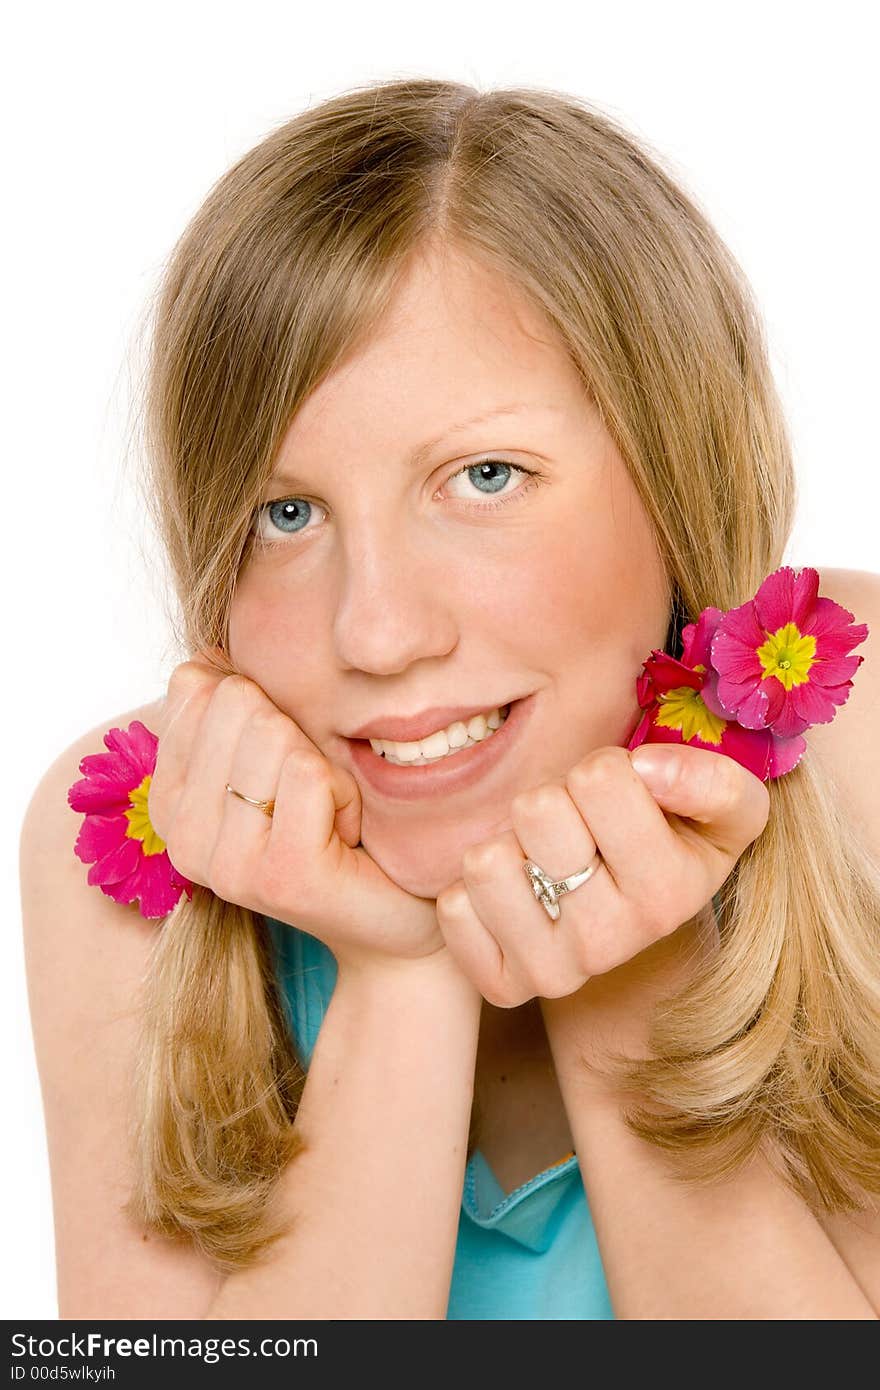
POLYGON ((717 671, 709 651, 723 613, 705 607, 696 623, 681 631, 681 660, 653 651, 637 681, 638 703, 645 710, 627 748, 639 744, 691 744, 726 753, 748 767, 760 781, 781 777, 798 764, 806 744, 780 738, 776 730, 744 728, 717 698, 717 671))

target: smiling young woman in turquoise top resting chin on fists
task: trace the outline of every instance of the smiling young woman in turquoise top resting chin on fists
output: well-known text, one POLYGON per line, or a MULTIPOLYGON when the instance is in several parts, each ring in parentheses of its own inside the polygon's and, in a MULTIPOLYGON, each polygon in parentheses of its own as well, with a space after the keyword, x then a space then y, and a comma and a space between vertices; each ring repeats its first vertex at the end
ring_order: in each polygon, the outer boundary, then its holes
POLYGON ((877 1316, 880 578, 784 776, 628 746, 795 506, 701 210, 580 100, 346 92, 185 231, 146 406, 186 660, 110 723, 192 897, 75 858, 103 723, 22 835, 61 1316, 877 1316))

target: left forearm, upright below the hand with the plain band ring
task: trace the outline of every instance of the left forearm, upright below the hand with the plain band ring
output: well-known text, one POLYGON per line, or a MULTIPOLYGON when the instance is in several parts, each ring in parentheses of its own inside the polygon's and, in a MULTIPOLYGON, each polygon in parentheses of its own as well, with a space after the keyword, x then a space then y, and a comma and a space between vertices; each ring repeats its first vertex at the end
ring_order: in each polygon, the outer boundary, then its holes
POLYGON ((291 1232, 209 1318, 446 1316, 480 1005, 439 956, 339 972, 275 1194, 291 1232))

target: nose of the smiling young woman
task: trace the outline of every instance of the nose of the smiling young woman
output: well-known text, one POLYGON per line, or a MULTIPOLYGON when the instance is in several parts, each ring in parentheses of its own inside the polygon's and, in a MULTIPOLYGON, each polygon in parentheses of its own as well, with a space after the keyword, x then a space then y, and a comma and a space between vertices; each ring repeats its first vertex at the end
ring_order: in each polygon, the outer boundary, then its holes
POLYGON ((399 528, 375 521, 360 528, 342 555, 334 621, 339 662, 395 676, 413 662, 452 652, 459 632, 443 569, 399 528))

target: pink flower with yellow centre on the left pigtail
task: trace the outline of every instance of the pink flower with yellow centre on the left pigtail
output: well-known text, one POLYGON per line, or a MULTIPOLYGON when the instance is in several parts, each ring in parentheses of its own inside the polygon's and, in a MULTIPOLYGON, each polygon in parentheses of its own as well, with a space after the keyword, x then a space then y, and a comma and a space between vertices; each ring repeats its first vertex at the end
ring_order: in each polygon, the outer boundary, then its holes
POLYGON ((192 898, 189 878, 179 874, 153 826, 147 810, 156 769, 158 738, 135 719, 128 730, 104 734, 106 753, 92 753, 79 763, 82 781, 67 794, 85 820, 74 853, 89 869, 89 883, 115 902, 139 899, 140 915, 164 917, 182 892, 192 898))

